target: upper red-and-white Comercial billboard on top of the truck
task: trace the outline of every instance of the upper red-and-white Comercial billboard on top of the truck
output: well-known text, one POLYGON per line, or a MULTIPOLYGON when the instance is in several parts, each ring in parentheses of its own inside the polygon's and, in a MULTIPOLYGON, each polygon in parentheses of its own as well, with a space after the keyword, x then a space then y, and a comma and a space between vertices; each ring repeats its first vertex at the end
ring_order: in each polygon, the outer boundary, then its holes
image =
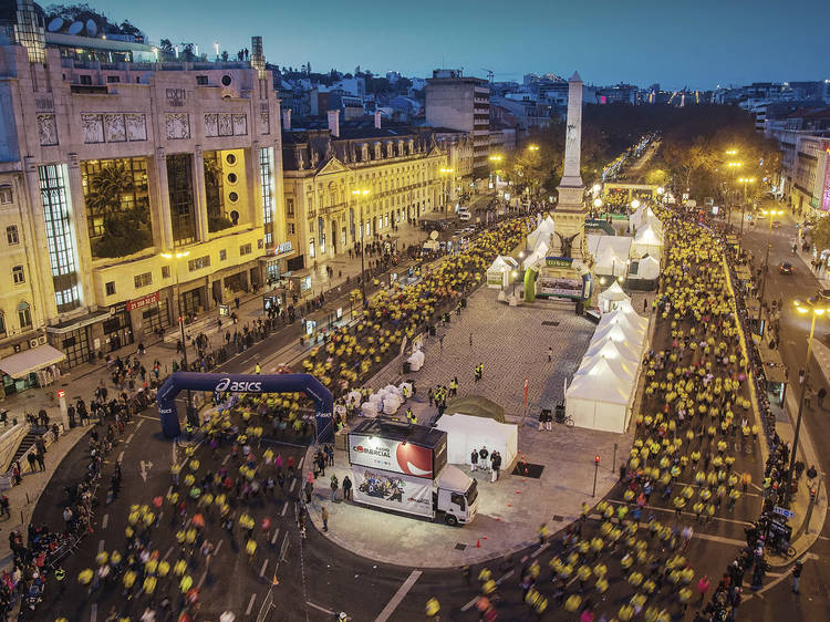
MULTIPOLYGON (((439 446, 443 460, 447 460, 446 439, 439 446)), ((436 458, 440 459, 436 448, 436 458)), ((400 473, 425 479, 433 479, 434 474, 440 471, 437 464, 433 464, 433 450, 413 443, 380 438, 362 434, 349 435, 349 462, 352 466, 365 466, 400 473), (434 470, 435 469, 435 470, 434 470)))

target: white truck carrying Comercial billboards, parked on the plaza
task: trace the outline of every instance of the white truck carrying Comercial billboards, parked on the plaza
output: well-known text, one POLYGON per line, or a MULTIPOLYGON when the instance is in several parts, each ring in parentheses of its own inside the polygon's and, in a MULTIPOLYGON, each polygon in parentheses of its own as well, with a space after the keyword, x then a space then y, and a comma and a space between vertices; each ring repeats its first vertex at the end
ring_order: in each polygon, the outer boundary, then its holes
POLYGON ((478 511, 477 483, 447 464, 447 434, 383 418, 361 422, 349 433, 354 500, 396 512, 471 522, 478 511))

